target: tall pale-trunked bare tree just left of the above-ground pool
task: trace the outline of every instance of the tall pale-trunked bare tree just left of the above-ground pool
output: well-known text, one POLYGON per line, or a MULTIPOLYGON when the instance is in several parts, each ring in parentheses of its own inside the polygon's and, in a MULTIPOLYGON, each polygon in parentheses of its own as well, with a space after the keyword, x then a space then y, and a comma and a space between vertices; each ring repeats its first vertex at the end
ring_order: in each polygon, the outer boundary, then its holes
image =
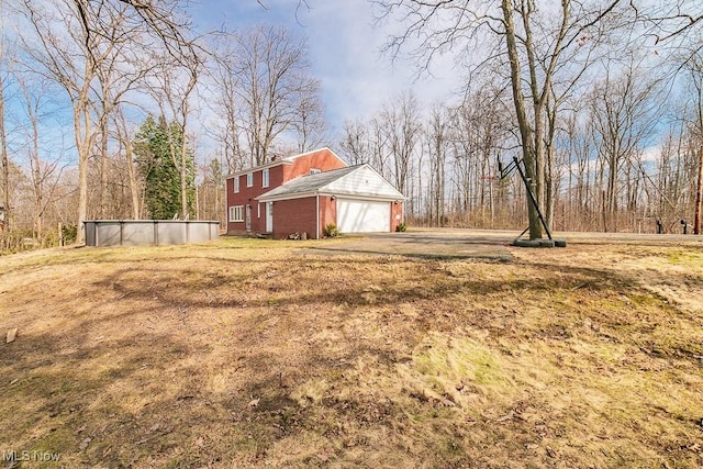
POLYGON ((175 57, 191 51, 191 43, 185 38, 187 23, 178 20, 179 4, 178 0, 60 0, 48 8, 38 0, 22 0, 24 15, 37 40, 35 44, 24 38, 24 48, 34 63, 41 64, 43 70, 37 71, 59 83, 71 102, 78 154, 77 244, 85 241, 90 153, 100 124, 107 120, 94 113, 100 100, 92 92, 93 82, 99 70, 105 70, 114 45, 121 41, 132 41, 132 47, 164 46, 175 57), (137 26, 145 31, 144 35, 133 34, 137 26))

